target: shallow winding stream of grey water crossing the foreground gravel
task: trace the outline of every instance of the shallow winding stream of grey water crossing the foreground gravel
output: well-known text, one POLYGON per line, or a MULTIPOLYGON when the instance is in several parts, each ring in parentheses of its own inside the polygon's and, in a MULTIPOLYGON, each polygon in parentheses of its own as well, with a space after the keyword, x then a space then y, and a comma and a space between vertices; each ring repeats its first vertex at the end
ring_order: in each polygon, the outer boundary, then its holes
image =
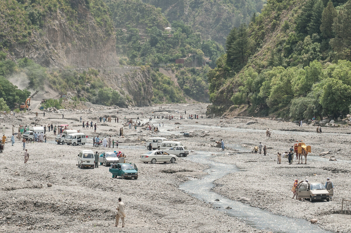
MULTIPOLYGON (((217 153, 218 154, 218 153, 217 153)), ((239 172, 235 165, 213 162, 211 160, 211 152, 197 151, 184 159, 196 163, 207 164, 210 166, 205 172, 208 173, 202 179, 190 179, 181 184, 179 189, 212 205, 219 211, 224 211, 232 217, 239 218, 246 224, 258 228, 269 229, 273 232, 286 233, 326 233, 319 228, 318 225, 311 224, 304 219, 290 218, 282 215, 273 214, 271 212, 261 210, 260 208, 251 207, 240 201, 231 200, 211 191, 214 187, 213 181, 226 174, 239 172), (219 199, 219 201, 215 201, 219 199), (230 206, 232 209, 226 209, 230 206)))

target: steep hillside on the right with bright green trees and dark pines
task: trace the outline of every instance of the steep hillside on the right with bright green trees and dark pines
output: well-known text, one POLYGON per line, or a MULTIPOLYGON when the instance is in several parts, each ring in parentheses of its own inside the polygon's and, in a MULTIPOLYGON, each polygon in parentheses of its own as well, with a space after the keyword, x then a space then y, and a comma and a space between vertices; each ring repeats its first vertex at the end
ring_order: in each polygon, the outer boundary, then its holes
POLYGON ((351 1, 273 0, 233 28, 208 74, 209 112, 294 119, 350 111, 351 1))

